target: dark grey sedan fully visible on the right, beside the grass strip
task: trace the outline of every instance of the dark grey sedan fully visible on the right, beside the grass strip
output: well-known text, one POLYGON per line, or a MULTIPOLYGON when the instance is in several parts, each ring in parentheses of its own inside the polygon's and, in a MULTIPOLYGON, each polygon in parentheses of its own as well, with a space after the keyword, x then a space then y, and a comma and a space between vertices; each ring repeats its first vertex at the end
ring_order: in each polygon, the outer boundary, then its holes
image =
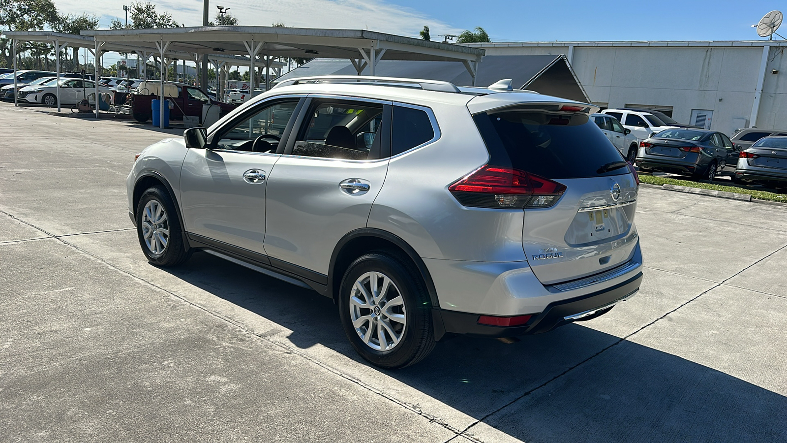
POLYGON ((713 180, 721 171, 733 172, 738 151, 721 132, 667 129, 640 143, 637 165, 642 171, 688 173, 713 180))

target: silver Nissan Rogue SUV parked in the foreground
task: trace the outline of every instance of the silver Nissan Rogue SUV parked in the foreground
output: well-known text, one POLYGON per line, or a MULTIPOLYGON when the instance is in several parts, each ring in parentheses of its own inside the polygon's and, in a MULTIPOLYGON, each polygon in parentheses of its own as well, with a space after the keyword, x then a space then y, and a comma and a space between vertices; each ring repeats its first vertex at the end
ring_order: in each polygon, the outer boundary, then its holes
POLYGON ((639 182, 596 111, 510 80, 288 80, 146 147, 129 212, 154 265, 205 251, 314 289, 360 356, 405 367, 637 292, 639 182))

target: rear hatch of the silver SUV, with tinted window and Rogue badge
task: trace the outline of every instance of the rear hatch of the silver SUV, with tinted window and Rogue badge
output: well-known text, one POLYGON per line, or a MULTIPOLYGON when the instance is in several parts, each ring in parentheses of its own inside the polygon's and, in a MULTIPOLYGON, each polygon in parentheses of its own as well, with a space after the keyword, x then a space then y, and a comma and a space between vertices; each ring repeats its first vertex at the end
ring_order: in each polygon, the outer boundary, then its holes
MULTIPOLYGON (((545 285, 621 266, 637 244, 634 169, 589 121, 591 110, 522 104, 474 115, 489 164, 512 169, 515 181, 529 181, 533 190, 521 205, 523 248, 545 285)), ((494 198, 501 205, 510 201, 494 198)))

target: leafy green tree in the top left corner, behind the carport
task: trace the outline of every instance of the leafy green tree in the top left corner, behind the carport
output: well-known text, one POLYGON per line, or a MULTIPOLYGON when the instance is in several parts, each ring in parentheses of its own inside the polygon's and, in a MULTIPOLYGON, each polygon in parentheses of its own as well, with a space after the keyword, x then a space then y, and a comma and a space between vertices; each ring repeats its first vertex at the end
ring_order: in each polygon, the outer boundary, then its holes
MULTIPOLYGON (((40 31, 54 28, 58 22, 57 7, 52 0, 0 0, 0 32, 40 31)), ((20 43, 18 52, 40 47, 42 43, 20 43)), ((49 47, 49 45, 45 45, 49 47)), ((39 48, 40 49, 40 48, 39 48)), ((40 56, 42 50, 36 51, 40 56)), ((0 57, 3 64, 13 66, 13 48, 9 39, 0 39, 0 57)), ((47 58, 48 60, 48 58, 47 58)), ((40 64, 40 59, 39 59, 40 64)))

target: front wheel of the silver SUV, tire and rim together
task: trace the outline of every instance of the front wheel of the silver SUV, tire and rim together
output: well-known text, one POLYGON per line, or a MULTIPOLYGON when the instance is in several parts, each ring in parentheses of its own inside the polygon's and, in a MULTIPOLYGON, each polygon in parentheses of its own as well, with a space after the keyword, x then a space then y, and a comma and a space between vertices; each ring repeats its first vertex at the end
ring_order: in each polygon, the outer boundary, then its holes
POLYGON ((175 203, 163 186, 147 188, 137 203, 137 237, 148 262, 176 266, 187 257, 175 203))

